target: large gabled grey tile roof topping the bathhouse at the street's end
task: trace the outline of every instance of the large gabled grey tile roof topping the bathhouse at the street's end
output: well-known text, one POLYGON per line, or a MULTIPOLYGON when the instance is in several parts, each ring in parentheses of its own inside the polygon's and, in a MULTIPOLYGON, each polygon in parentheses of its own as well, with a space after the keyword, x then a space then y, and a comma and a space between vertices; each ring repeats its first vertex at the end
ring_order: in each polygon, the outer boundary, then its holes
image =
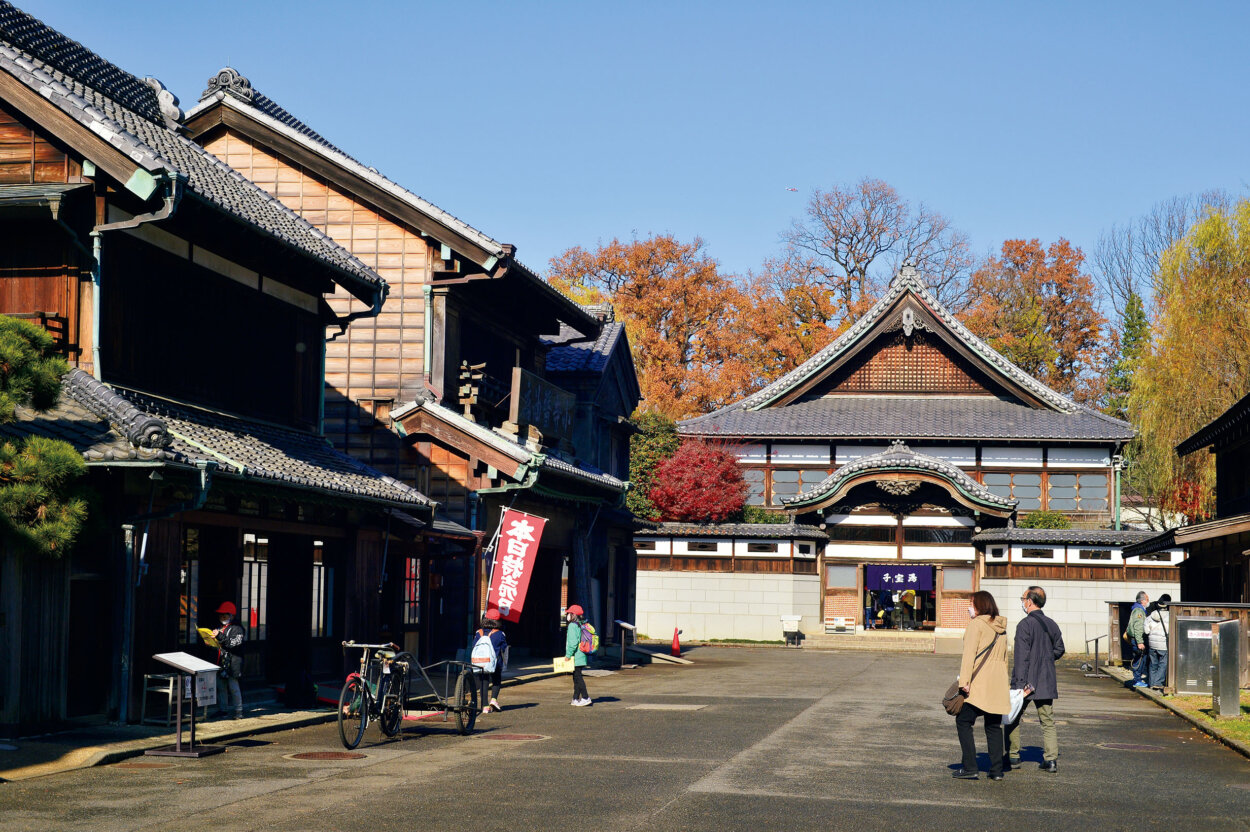
MULTIPOLYGON (((910 314, 910 310, 905 312, 910 314)), ((904 322, 904 326, 909 325, 904 322)), ((906 329, 905 331, 910 331, 906 329)), ((895 402, 900 401, 916 401, 920 409, 912 407, 910 410, 911 415, 926 415, 924 414, 924 402, 920 397, 914 397, 911 400, 888 400, 892 406, 895 402)), ((1006 404, 1006 402, 1004 402, 1006 404)), ((842 405, 839 405, 842 407, 842 405)), ((850 406, 854 409, 854 406, 850 406)), ((868 409, 861 409, 860 412, 865 412, 868 409)), ((871 411, 874 416, 884 415, 889 418, 884 407, 871 411)), ((950 411, 948 411, 950 412, 950 411)), ((916 274, 915 269, 911 266, 904 266, 898 276, 890 281, 890 287, 886 290, 885 295, 869 310, 864 317, 856 321, 849 330, 835 339, 829 346, 816 352, 802 365, 791 370, 786 375, 781 376, 772 384, 765 386, 758 392, 746 396, 741 401, 728 405, 718 411, 708 414, 705 416, 698 416, 695 418, 686 420, 680 423, 680 431, 682 433, 724 433, 726 436, 765 436, 765 435, 788 435, 785 426, 794 423, 789 420, 794 418, 798 422, 806 422, 806 432, 798 433, 802 436, 905 436, 905 437, 936 437, 936 436, 952 436, 952 437, 978 437, 979 432, 970 428, 960 428, 960 422, 968 417, 981 417, 982 420, 992 420, 996 417, 1002 417, 1006 423, 995 427, 991 423, 986 423, 986 428, 992 431, 991 437, 994 438, 1112 438, 1112 440, 1128 440, 1135 433, 1132 427, 1128 422, 1122 422, 1118 418, 1111 418, 1110 416, 1104 416, 1076 401, 1064 396, 1046 385, 1041 384, 1024 370, 1014 365, 996 350, 994 350, 989 344, 972 335, 972 332, 965 327, 962 324, 950 314, 941 302, 934 297, 929 289, 924 285, 924 281, 916 274), (964 411, 956 411, 954 415, 954 423, 941 423, 942 420, 949 418, 944 415, 941 407, 931 411, 931 415, 939 420, 938 425, 926 426, 922 420, 920 421, 908 421, 902 420, 906 425, 905 430, 886 430, 885 426, 878 430, 862 431, 856 423, 855 415, 851 414, 850 426, 844 426, 842 423, 834 422, 825 426, 824 428, 811 423, 811 416, 825 415, 825 416, 838 416, 838 411, 821 411, 820 402, 802 402, 801 405, 790 405, 786 407, 779 407, 776 410, 791 410, 794 407, 804 407, 808 405, 815 405, 816 407, 808 407, 798 414, 790 414, 789 416, 775 416, 771 420, 764 416, 769 412, 770 405, 779 399, 786 396, 791 391, 799 389, 802 384, 815 377, 826 366, 839 357, 846 355, 852 350, 860 341, 874 331, 878 324, 886 319, 886 312, 894 309, 895 304, 900 301, 905 295, 914 296, 932 317, 940 322, 940 325, 951 335, 951 337, 962 342, 971 352, 974 352, 982 366, 991 375, 998 375, 1004 379, 1010 385, 1028 392, 1030 396, 1044 402, 1045 409, 1025 409, 1020 406, 1015 411, 994 411, 986 409, 985 406, 976 406, 971 404, 971 397, 965 400, 959 400, 961 402, 968 402, 964 411), (1036 426, 1021 430, 1018 423, 1028 423, 1030 417, 1022 414, 1022 410, 1034 410, 1040 416, 1036 418, 1036 426), (1049 414, 1049 416, 1046 415, 1049 414), (745 417, 744 417, 745 416, 745 417), (762 418, 762 422, 756 422, 755 416, 762 418), (1064 417, 1071 418, 1071 425, 1064 417), (780 421, 776 421, 780 420, 780 421), (756 428, 756 425, 770 425, 769 428, 756 428), (780 430, 779 430, 780 428, 780 430), (1031 432, 1036 431, 1036 432, 1031 432)), ((898 423, 898 420, 894 422, 898 423)))

